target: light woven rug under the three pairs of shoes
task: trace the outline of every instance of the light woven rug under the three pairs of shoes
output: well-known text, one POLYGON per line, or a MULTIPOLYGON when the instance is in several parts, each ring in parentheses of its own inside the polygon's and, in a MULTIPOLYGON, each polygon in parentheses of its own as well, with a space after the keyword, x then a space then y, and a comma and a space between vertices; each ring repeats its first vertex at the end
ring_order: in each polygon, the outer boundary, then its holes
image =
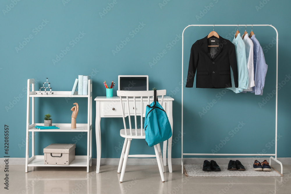
POLYGON ((244 165, 246 170, 227 170, 228 165, 219 165, 221 171, 203 171, 202 165, 185 164, 184 172, 189 177, 265 177, 265 176, 284 176, 272 166, 272 171, 255 171, 253 165, 244 165))

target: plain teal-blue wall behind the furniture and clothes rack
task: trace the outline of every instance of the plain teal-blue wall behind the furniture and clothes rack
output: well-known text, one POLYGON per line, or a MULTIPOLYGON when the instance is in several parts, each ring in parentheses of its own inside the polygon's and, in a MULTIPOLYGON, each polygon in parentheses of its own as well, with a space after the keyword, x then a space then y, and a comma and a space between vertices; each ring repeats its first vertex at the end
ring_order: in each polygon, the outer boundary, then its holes
MULTIPOLYGON (((3 0, 0 8, 0 119, 2 127, 4 124, 9 126, 10 157, 25 157, 27 79, 36 79, 36 87, 40 87, 40 83, 48 77, 54 91, 63 91, 72 89, 79 74, 91 75, 93 98, 105 95, 104 80, 117 81, 121 74, 149 75, 150 88, 166 89, 167 95, 175 99, 172 156, 181 157, 181 35, 189 24, 272 24, 278 29, 278 82, 284 84, 278 91, 278 157, 291 157, 290 1, 3 0), (16 5, 11 4, 13 2, 16 5), (104 11, 106 9, 109 11, 104 11), (73 43, 72 40, 78 36, 79 42, 73 43), (122 42, 125 44, 126 40, 129 40, 126 45, 116 48, 122 42), (26 45, 19 45, 20 42, 26 45), (63 51, 63 56, 61 53, 66 47, 69 51, 63 51), (162 58, 153 61, 164 49, 162 58), (150 65, 153 62, 155 64, 150 65)), ((232 40, 237 29, 215 27, 214 30, 232 40)), ((244 30, 244 27, 240 28, 242 33, 244 30)), ((191 45, 210 31, 212 27, 191 27, 185 32, 184 77, 191 45)), ((247 31, 251 31, 251 27, 247 27, 247 31)), ((273 41, 276 33, 270 27, 253 27, 253 31, 264 47, 268 64, 263 95, 235 94, 224 89, 184 88, 184 140, 187 141, 184 152, 258 153, 265 150, 266 153, 274 153, 275 97, 270 93, 275 89, 276 80, 276 45, 273 41), (214 99, 217 103, 212 106, 214 99), (259 103, 264 100, 268 101, 260 107, 259 103), (200 116, 203 108, 208 111, 200 116)), ((116 95, 116 90, 117 87, 113 95, 116 95)), ((53 122, 70 123, 70 108, 74 102, 78 102, 81 108, 77 122, 86 122, 87 103, 80 98, 37 99, 39 114, 36 122, 43 122, 43 115, 50 113, 53 122)), ((123 138, 118 130, 121 127, 121 119, 102 119, 102 158, 120 157, 118 147, 123 138)), ((50 143, 77 142, 76 154, 84 155, 86 136, 77 140, 75 136, 78 135, 80 133, 36 133, 36 152, 42 154, 42 149, 50 143)), ((3 142, 3 132, 0 136, 3 142)), ((93 158, 96 158, 95 102, 92 139, 93 158)), ((153 152, 147 149, 144 141, 137 141, 134 145, 132 152, 138 148, 153 152)))

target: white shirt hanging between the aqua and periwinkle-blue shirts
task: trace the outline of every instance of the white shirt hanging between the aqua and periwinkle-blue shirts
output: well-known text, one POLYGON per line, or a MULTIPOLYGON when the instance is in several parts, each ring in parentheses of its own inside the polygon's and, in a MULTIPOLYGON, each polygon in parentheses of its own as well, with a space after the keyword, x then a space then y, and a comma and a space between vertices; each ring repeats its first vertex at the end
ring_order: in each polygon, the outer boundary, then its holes
MULTIPOLYGON (((243 37, 244 35, 242 35, 243 37)), ((249 86, 248 89, 244 89, 244 91, 253 91, 253 86, 255 86, 254 81, 254 45, 253 41, 249 38, 249 34, 247 33, 244 36, 244 44, 246 45, 246 61, 247 61, 247 67, 249 70, 249 86)))

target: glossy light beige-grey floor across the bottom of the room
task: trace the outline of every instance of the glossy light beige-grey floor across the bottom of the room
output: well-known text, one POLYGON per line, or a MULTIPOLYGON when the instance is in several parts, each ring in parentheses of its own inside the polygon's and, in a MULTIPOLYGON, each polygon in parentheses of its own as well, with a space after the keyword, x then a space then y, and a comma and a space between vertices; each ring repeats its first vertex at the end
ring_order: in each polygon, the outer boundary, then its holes
MULTIPOLYGON (((119 182, 117 165, 90 167, 29 167, 9 165, 9 190, 4 189, 4 165, 0 165, 0 193, 291 193, 291 165, 283 165, 284 177, 187 177, 180 165, 164 173, 162 183, 157 165, 127 165, 119 182)), ((279 165, 274 165, 277 170, 279 165)))

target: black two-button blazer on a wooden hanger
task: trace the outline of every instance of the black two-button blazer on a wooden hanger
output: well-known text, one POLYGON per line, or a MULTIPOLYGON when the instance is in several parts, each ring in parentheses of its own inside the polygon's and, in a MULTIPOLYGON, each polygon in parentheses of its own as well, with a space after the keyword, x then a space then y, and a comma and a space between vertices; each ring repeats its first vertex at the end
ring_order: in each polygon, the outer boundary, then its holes
POLYGON ((221 36, 208 39, 206 36, 197 40, 191 47, 186 87, 193 87, 196 70, 196 88, 232 87, 230 67, 233 70, 235 87, 238 88, 235 45, 221 36))

